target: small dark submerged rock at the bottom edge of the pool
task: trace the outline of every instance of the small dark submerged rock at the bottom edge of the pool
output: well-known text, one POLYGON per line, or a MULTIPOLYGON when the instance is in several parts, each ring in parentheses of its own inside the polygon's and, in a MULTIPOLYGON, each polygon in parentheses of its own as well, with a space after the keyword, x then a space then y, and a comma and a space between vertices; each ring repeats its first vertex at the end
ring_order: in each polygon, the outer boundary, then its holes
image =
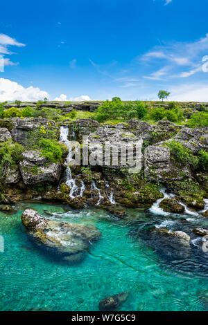
POLYGON ((118 308, 127 297, 128 291, 125 291, 124 293, 119 293, 118 295, 102 299, 99 303, 99 309, 101 311, 116 310, 116 308, 118 308))

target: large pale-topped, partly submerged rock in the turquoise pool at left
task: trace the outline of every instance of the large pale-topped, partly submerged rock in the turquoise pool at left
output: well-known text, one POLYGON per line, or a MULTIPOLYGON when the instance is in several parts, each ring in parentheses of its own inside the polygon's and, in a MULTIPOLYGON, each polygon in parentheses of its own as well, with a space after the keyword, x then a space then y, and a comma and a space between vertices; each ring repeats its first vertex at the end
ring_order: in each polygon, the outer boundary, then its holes
POLYGON ((94 225, 51 221, 32 209, 24 211, 21 221, 40 248, 64 261, 80 261, 92 241, 101 236, 94 225))

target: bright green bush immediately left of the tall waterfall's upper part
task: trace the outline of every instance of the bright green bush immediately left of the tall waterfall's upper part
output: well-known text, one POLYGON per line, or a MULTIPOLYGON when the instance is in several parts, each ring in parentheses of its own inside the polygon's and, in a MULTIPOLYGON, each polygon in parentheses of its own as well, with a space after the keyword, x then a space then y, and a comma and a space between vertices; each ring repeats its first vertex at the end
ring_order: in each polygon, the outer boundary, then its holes
POLYGON ((40 139, 39 148, 43 156, 48 158, 52 163, 58 163, 62 159, 62 155, 65 153, 65 147, 57 141, 49 139, 40 139))

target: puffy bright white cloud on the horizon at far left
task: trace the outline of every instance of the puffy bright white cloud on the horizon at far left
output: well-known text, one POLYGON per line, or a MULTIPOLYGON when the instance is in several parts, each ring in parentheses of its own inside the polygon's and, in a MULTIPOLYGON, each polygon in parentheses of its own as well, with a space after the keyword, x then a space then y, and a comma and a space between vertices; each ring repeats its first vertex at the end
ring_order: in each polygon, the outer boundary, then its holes
POLYGON ((5 102, 6 100, 21 100, 22 102, 30 102, 44 99, 44 97, 49 98, 49 93, 46 91, 41 91, 37 87, 30 86, 28 88, 24 88, 21 86, 21 84, 17 84, 17 82, 0 78, 0 102, 5 102))

